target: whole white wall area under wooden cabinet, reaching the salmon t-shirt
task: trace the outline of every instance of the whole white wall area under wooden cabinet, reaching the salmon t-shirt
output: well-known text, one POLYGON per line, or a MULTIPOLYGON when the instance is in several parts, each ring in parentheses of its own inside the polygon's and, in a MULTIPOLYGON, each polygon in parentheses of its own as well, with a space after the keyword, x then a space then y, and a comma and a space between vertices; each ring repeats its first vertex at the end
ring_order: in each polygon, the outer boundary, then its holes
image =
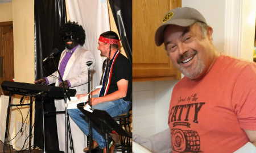
POLYGON ((171 93, 179 80, 133 82, 133 133, 148 137, 168 128, 171 93))

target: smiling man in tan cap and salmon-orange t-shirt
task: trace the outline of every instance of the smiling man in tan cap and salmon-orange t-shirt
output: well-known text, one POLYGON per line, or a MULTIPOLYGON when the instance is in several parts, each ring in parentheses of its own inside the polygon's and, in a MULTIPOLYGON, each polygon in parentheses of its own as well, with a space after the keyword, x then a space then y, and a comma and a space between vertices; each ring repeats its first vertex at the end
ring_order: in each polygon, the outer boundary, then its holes
POLYGON ((218 53, 212 34, 189 7, 169 11, 155 33, 185 76, 168 113, 172 152, 256 152, 256 64, 218 53))

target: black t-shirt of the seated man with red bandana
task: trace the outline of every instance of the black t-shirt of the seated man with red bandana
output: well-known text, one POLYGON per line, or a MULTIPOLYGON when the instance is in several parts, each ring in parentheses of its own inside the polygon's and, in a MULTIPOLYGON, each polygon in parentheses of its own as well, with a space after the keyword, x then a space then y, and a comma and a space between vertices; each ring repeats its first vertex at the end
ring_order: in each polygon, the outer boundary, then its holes
MULTIPOLYGON (((102 65, 102 69, 104 69, 104 64, 105 64, 105 61, 102 65)), ((126 97, 123 97, 123 100, 131 101, 132 82, 133 82, 132 73, 131 73, 131 63, 125 56, 122 55, 122 53, 119 53, 113 65, 112 77, 111 77, 109 90, 107 94, 117 91, 118 90, 117 82, 123 78, 129 81, 126 97)))

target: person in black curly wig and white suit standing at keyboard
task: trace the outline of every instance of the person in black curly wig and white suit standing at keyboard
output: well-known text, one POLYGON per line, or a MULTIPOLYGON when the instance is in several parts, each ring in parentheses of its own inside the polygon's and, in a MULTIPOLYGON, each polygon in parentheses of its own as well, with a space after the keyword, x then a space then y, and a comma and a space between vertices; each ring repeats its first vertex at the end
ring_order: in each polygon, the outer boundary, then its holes
MULTIPOLYGON (((76 89, 76 94, 88 93, 88 67, 87 61, 93 61, 91 68, 95 65, 93 53, 82 48, 85 43, 85 31, 79 24, 75 22, 65 23, 59 30, 59 42, 64 44, 65 49, 60 56, 59 71, 63 77, 66 88, 76 89)), ((57 71, 51 76, 40 78, 35 83, 52 84, 63 87, 62 82, 56 78, 59 77, 57 71)), ((55 100, 56 111, 63 111, 65 108, 64 101, 55 100)), ((57 132, 59 138, 60 150, 65 150, 65 115, 57 114, 57 132)), ((85 135, 79 129, 72 119, 69 119, 71 124, 71 133, 73 137, 73 144, 75 151, 83 150, 85 148, 85 135)))

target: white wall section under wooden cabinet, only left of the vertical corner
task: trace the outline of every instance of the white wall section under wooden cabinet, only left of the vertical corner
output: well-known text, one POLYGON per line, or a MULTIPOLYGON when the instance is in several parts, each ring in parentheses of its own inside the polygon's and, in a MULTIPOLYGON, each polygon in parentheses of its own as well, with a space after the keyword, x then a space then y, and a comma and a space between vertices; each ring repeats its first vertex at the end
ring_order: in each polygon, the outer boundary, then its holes
POLYGON ((133 133, 155 134, 155 82, 133 82, 133 133))

